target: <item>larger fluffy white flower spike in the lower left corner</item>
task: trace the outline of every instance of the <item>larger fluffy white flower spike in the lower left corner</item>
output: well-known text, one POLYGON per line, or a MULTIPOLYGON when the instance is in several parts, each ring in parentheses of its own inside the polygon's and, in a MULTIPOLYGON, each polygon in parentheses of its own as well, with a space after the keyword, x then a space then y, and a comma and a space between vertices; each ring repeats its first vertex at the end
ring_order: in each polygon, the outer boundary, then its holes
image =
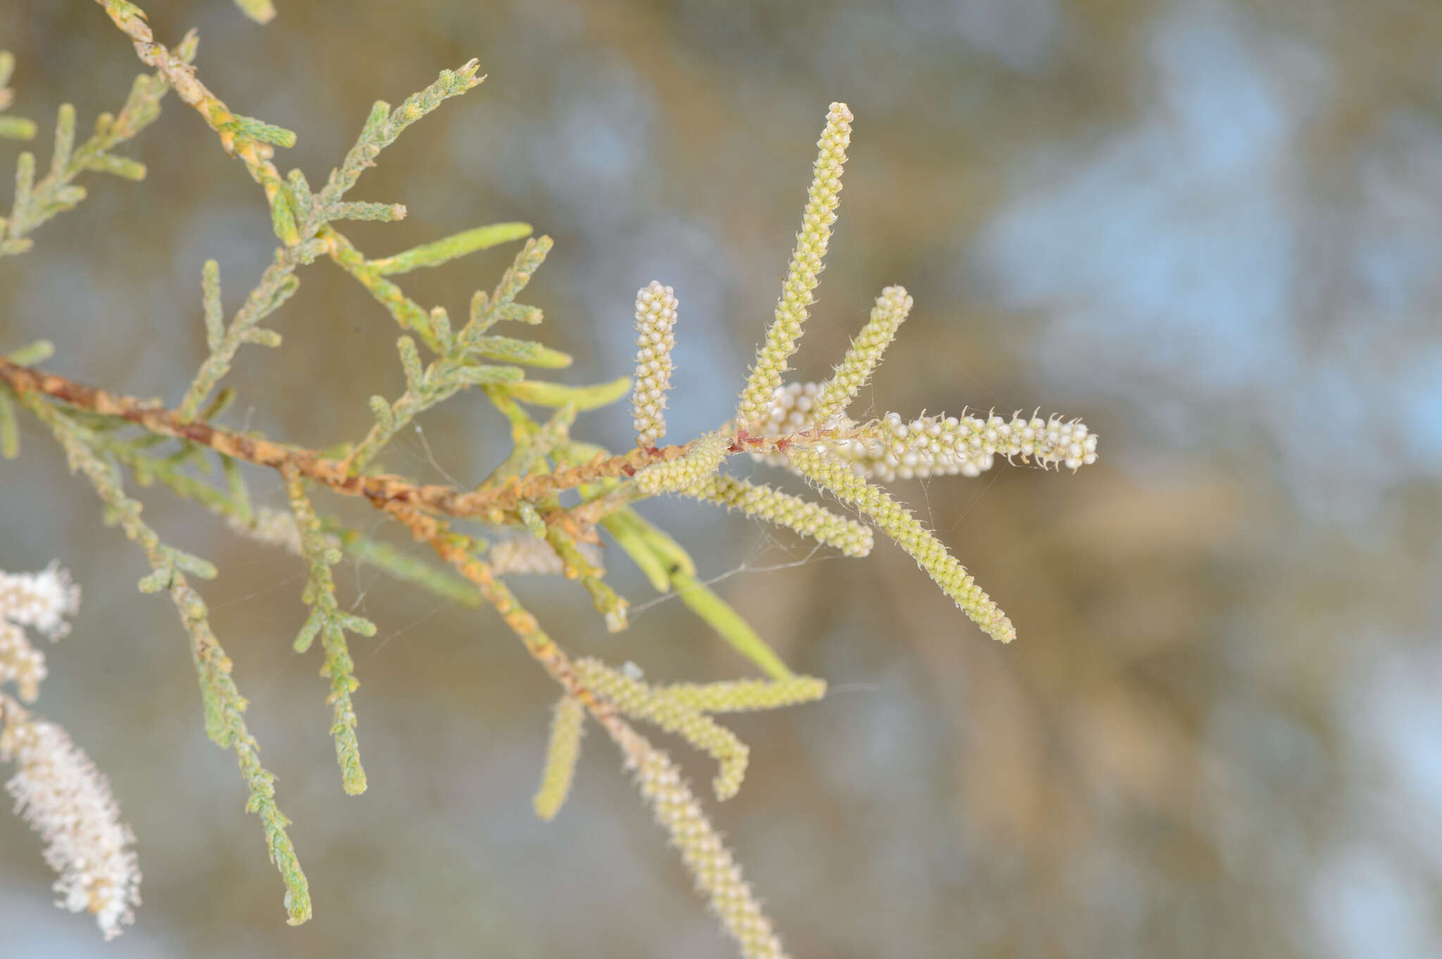
MULTIPOLYGON (((0 713, 9 711, 0 703, 0 713)), ((19 766, 6 789, 16 812, 45 839, 45 861, 61 874, 56 906, 94 913, 105 939, 114 939, 136 920, 140 865, 128 848, 136 837, 120 822, 105 776, 63 729, 29 717, 7 721, 0 760, 19 766)))

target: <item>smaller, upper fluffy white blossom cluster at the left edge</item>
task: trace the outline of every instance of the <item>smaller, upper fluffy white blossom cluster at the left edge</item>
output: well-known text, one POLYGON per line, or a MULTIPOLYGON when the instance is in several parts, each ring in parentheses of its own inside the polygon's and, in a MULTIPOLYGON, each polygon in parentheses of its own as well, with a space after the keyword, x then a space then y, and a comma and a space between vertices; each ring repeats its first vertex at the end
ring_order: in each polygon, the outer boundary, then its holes
POLYGON ((45 654, 30 645, 25 626, 52 642, 69 632, 65 616, 75 615, 81 587, 58 564, 39 573, 0 570, 0 683, 14 683, 26 703, 33 703, 46 677, 45 654))

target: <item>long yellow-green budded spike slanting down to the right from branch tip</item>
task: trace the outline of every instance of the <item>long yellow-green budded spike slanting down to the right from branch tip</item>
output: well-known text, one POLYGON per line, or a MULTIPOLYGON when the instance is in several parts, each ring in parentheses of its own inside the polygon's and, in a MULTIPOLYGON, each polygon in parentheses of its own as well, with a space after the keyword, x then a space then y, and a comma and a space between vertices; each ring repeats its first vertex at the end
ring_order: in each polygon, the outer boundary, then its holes
POLYGON ((790 455, 803 477, 871 517, 986 635, 1001 642, 1017 638, 1011 619, 1007 619, 966 567, 947 553, 942 541, 917 523, 906 507, 858 477, 845 462, 828 459, 812 449, 792 449, 790 455))

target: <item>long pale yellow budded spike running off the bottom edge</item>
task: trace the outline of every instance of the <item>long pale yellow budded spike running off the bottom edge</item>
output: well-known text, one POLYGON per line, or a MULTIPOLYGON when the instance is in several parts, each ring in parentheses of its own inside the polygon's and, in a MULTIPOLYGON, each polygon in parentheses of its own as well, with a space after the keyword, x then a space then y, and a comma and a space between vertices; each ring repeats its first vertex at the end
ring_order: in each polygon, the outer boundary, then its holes
POLYGON ((671 834, 696 886, 711 900, 711 909, 741 946, 741 955, 746 959, 786 959, 771 920, 761 911, 751 887, 741 878, 735 857, 721 842, 671 756, 624 723, 607 726, 607 730, 622 747, 626 765, 636 772, 636 785, 650 802, 656 822, 671 834))

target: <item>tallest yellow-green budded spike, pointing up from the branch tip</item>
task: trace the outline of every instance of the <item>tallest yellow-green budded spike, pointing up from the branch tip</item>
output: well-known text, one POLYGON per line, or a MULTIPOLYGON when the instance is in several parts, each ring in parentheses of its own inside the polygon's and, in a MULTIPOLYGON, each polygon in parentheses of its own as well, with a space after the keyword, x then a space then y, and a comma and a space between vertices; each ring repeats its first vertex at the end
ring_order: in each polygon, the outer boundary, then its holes
POLYGON ((756 354, 756 366, 751 367, 737 408, 737 420, 744 428, 766 419, 771 392, 780 386, 782 373, 787 369, 786 360, 796 351, 796 341, 802 336, 806 308, 812 302, 812 291, 816 289, 826 243, 831 240, 831 225, 836 222, 841 173, 846 163, 852 120, 855 117, 845 104, 832 104, 826 114, 826 130, 816 143, 819 153, 806 194, 806 215, 802 217, 802 232, 796 235, 796 249, 786 271, 782 297, 776 301, 776 318, 766 331, 766 343, 756 354))

